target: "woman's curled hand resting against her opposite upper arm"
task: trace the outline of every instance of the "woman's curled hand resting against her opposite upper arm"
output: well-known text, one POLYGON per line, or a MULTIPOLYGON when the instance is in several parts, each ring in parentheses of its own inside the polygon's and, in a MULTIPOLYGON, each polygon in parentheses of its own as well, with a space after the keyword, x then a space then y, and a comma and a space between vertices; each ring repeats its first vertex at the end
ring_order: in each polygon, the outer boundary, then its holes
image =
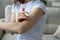
POLYGON ((18 14, 18 22, 22 22, 24 20, 27 20, 28 18, 29 18, 29 14, 23 8, 23 10, 18 14))

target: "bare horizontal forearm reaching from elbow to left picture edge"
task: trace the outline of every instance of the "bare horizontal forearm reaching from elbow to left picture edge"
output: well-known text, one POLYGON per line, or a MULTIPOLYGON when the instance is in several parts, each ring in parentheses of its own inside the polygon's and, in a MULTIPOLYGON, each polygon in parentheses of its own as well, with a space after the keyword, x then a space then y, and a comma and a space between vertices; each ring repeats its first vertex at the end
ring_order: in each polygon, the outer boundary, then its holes
POLYGON ((6 30, 9 32, 18 33, 19 25, 20 25, 20 23, 16 23, 16 22, 0 22, 0 29, 6 30))

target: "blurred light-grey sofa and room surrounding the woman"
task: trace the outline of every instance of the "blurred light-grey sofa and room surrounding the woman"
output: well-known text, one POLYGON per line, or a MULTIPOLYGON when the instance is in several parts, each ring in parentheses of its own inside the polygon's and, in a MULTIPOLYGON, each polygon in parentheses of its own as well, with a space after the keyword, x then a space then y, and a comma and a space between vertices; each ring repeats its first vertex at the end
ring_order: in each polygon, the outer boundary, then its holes
MULTIPOLYGON (((60 0, 41 0, 46 5, 43 40, 60 40, 60 0)), ((12 0, 0 0, 0 21, 10 20, 12 0), (6 17, 6 15, 8 17, 6 17)), ((17 34, 0 30, 0 40, 16 40, 17 34)))

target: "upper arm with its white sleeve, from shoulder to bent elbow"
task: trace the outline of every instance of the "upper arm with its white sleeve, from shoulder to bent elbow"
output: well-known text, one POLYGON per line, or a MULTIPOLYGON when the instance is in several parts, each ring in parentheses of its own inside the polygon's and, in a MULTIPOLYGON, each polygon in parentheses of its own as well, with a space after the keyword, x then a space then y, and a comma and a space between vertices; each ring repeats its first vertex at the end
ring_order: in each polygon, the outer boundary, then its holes
POLYGON ((38 20, 44 15, 44 13, 45 6, 43 4, 37 2, 35 5, 33 5, 29 16, 31 20, 25 20, 23 21, 23 23, 21 23, 20 25, 21 33, 25 33, 26 31, 31 29, 33 25, 35 25, 38 22, 38 20))

